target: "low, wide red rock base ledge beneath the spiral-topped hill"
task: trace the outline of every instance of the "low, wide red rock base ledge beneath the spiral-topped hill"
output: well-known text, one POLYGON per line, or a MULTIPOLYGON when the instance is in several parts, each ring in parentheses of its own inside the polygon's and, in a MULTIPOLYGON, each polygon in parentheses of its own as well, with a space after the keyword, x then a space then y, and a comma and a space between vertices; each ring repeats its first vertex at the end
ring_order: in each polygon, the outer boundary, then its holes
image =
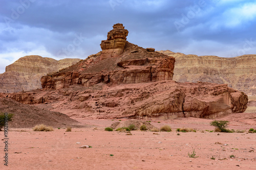
MULTIPOLYGON (((3 94, 2 94, 2 97, 3 94)), ((5 96, 6 97, 6 96, 5 96)), ((70 86, 54 91, 9 94, 23 104, 50 105, 53 111, 76 110, 87 118, 216 118, 244 112, 247 95, 226 84, 157 81, 118 86, 70 86)), ((49 106, 48 106, 49 107, 49 106)), ((75 114, 75 113, 74 113, 75 114)))

